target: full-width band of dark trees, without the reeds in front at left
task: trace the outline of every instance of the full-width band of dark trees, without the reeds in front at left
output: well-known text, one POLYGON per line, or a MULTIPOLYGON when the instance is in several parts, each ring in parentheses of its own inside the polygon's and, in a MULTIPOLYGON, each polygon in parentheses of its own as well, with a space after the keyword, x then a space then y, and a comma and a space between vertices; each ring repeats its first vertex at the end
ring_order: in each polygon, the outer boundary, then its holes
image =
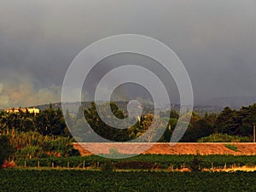
MULTIPOLYGON (((115 102, 105 103, 101 110, 105 110, 104 106, 110 105, 113 114, 119 119, 129 118, 127 113, 121 111, 115 102)), ((104 122, 96 110, 96 103, 92 102, 90 108, 79 108, 79 112, 71 114, 67 111, 65 117, 69 124, 73 136, 70 134, 65 122, 61 109, 49 108, 44 109, 38 114, 22 112, 20 113, 0 113, 0 134, 9 134, 10 131, 29 132, 35 131, 42 136, 49 137, 75 137, 79 142, 90 141, 90 133, 95 131, 96 134, 108 140, 125 142, 142 136, 148 131, 148 127, 154 119, 154 129, 145 137, 145 141, 150 142, 158 130, 165 129, 164 134, 160 137, 159 142, 170 142, 172 132, 177 125, 179 113, 176 110, 160 112, 159 115, 152 113, 144 114, 137 117, 137 123, 126 129, 116 129, 104 122), (84 127, 84 119, 89 123, 90 127, 84 127), (168 124, 163 122, 167 121, 168 124)), ((104 119, 108 119, 108 116, 104 119)), ((183 117, 180 117, 182 120, 183 117)), ((131 119, 132 120, 132 119, 131 119)), ((220 113, 205 113, 203 116, 196 112, 192 112, 188 129, 183 135, 180 142, 197 142, 202 137, 210 137, 211 135, 228 135, 231 137, 244 137, 244 141, 253 141, 253 125, 256 125, 256 104, 242 107, 239 110, 224 108, 220 113)), ((125 126, 125 125, 124 125, 125 126)))

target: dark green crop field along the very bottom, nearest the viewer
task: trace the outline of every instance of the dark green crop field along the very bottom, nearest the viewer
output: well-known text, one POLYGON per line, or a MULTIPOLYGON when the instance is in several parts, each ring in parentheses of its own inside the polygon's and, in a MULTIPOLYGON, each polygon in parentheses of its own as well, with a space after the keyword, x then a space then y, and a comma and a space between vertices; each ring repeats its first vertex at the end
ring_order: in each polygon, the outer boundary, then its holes
POLYGON ((256 172, 0 172, 0 191, 256 191, 256 172))

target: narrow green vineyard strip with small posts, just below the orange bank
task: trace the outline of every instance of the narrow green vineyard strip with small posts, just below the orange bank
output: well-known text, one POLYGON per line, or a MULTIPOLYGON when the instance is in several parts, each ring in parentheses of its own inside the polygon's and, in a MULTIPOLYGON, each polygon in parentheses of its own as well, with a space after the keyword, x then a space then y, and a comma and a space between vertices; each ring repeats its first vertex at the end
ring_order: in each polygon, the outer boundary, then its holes
POLYGON ((100 156, 76 156, 76 157, 53 157, 44 159, 21 159, 15 160, 17 166, 54 166, 54 167, 99 167, 111 161, 119 169, 122 168, 163 168, 170 166, 172 168, 181 168, 191 166, 193 160, 200 160, 201 168, 211 168, 218 166, 256 166, 255 156, 236 156, 236 155, 158 155, 158 154, 140 154, 135 157, 109 160, 100 156), (123 166, 123 167, 122 167, 123 166), (145 166, 145 167, 144 167, 145 166))

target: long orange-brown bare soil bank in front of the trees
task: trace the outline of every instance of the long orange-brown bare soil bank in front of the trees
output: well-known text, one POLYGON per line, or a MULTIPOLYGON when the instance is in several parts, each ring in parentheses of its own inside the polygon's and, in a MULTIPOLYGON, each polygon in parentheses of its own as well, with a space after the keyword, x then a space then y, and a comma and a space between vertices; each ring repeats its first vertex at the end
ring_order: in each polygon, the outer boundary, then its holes
POLYGON ((234 154, 256 155, 256 143, 73 143, 82 156, 108 154, 115 148, 121 154, 234 154), (225 145, 234 145, 237 150, 225 145))

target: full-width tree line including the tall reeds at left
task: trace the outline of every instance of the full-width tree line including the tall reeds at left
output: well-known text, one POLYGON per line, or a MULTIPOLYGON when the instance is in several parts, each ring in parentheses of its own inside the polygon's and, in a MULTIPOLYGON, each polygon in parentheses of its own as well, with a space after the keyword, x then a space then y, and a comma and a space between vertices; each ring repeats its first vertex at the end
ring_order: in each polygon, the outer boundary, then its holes
MULTIPOLYGON (((120 110, 115 102, 103 104, 100 110, 104 112, 107 105, 110 105, 117 118, 129 119, 127 113, 120 110)), ((205 113, 202 116, 196 112, 188 113, 192 113, 191 120, 180 142, 253 142, 256 104, 239 110, 226 107, 220 113, 205 113)), ((183 120, 176 110, 163 111, 159 115, 147 113, 133 118, 137 118, 136 124, 127 125, 126 129, 113 128, 108 124, 112 121, 108 114, 104 117, 107 121, 100 118, 94 102, 89 108, 80 107, 76 114, 67 111, 65 118, 60 108, 54 109, 51 105, 37 114, 21 110, 19 113, 1 112, 0 163, 3 163, 10 153, 14 158, 25 159, 79 155, 72 143, 98 142, 90 137, 93 131, 116 142, 131 141, 141 136, 145 137, 139 142, 151 142, 154 141, 154 136, 163 130, 164 133, 158 142, 167 143, 170 142, 177 119, 183 120), (84 119, 90 126, 84 126, 84 119), (148 131, 150 126, 153 128, 148 131)), ((134 119, 131 118, 131 122, 132 120, 134 119)))

